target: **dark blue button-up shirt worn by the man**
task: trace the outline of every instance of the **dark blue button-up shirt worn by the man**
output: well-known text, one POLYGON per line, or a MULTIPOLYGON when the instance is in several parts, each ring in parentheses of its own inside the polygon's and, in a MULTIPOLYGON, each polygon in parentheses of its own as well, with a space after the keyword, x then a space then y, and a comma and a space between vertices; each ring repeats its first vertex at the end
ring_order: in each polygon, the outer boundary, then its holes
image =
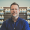
POLYGON ((29 24, 25 19, 20 17, 18 17, 16 22, 12 18, 9 18, 3 22, 1 30, 29 30, 29 24))

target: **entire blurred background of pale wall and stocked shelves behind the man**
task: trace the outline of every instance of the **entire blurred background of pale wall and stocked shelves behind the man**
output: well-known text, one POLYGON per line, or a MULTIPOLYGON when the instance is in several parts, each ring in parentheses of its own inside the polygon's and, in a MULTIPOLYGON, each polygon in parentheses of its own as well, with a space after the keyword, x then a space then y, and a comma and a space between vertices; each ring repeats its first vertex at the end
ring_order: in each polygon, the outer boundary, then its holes
POLYGON ((10 5, 13 2, 19 4, 19 17, 25 19, 30 28, 30 0, 0 0, 0 28, 5 20, 11 18, 10 5))

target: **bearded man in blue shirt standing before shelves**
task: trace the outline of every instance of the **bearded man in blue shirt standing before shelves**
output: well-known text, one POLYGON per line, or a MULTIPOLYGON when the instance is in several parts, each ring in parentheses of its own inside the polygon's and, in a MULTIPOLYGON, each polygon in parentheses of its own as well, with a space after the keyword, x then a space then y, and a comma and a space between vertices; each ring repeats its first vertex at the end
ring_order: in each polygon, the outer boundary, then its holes
POLYGON ((3 22, 1 30, 29 30, 27 21, 19 17, 19 5, 12 3, 10 6, 11 18, 3 22))

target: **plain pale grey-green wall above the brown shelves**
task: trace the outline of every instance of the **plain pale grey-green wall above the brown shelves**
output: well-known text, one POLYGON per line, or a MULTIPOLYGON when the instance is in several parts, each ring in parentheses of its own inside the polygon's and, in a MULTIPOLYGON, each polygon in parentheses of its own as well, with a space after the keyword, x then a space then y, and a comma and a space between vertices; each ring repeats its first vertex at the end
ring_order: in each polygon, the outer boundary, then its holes
POLYGON ((0 7, 9 7, 13 2, 18 3, 20 7, 30 7, 30 0, 0 0, 0 7))

